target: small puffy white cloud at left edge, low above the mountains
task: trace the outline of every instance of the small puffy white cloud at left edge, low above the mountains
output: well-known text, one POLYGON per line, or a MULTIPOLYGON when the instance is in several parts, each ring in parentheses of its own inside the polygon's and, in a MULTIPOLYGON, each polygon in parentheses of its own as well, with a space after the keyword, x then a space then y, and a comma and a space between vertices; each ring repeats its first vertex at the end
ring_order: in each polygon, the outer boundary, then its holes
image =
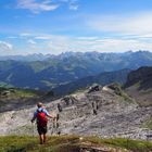
POLYGON ((0 41, 0 52, 8 52, 13 49, 13 46, 5 41, 0 41))

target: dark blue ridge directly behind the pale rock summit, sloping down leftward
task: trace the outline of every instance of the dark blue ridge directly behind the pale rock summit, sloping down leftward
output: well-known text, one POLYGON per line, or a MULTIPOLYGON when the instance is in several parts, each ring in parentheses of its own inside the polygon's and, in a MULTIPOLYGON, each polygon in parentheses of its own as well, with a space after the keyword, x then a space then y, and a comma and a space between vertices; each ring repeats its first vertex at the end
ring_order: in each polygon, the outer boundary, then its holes
POLYGON ((96 76, 88 76, 65 85, 60 85, 48 92, 48 94, 53 92, 54 96, 65 96, 92 85, 96 86, 96 84, 101 86, 112 83, 125 84, 130 69, 121 69, 115 72, 104 72, 96 76))

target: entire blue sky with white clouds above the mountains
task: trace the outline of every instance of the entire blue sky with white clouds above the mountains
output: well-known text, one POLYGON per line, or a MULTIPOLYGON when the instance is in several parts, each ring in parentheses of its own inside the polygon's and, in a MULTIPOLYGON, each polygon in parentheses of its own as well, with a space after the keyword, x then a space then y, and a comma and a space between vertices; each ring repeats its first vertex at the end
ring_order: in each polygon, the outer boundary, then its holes
POLYGON ((0 0, 0 55, 152 50, 152 0, 0 0))

